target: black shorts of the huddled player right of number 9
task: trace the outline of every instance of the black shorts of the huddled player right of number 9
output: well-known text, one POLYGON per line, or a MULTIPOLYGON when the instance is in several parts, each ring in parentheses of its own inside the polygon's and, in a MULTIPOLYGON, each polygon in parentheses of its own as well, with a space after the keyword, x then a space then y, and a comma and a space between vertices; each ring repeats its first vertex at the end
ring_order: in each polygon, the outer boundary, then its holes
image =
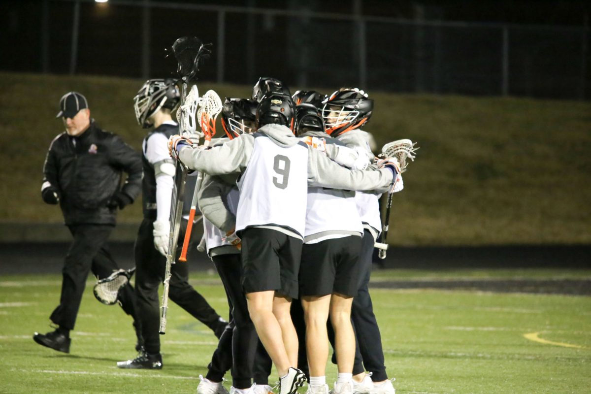
POLYGON ((338 293, 355 297, 359 291, 361 237, 347 236, 304 243, 301 251, 300 295, 338 293))

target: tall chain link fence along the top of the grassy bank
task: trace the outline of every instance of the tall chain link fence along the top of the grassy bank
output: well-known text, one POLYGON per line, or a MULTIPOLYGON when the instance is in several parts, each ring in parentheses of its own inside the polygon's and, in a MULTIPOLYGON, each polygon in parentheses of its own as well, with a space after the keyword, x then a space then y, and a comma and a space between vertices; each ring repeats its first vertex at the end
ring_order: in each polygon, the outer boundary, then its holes
MULTIPOLYGON (((294 2, 292 2, 294 3, 294 2)), ((295 2, 297 4, 297 2, 295 2)), ((402 20, 148 0, 21 0, 2 17, 4 70, 163 77, 182 35, 213 43, 200 79, 589 100, 589 29, 402 20)))

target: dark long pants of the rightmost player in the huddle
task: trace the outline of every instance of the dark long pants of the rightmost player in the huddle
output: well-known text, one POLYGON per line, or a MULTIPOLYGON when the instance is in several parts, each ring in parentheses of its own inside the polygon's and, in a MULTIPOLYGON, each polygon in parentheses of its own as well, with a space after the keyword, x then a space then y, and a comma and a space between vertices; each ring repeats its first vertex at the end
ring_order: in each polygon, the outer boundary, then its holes
POLYGON ((363 366, 365 366, 366 370, 372 372, 371 378, 374 382, 381 382, 388 379, 388 375, 384 364, 382 337, 379 333, 378 322, 375 319, 374 306, 368 289, 372 268, 372 253, 374 252, 374 237, 368 230, 365 230, 361 242, 359 292, 353 298, 351 320, 355 327, 355 335, 359 351, 361 351, 363 366))

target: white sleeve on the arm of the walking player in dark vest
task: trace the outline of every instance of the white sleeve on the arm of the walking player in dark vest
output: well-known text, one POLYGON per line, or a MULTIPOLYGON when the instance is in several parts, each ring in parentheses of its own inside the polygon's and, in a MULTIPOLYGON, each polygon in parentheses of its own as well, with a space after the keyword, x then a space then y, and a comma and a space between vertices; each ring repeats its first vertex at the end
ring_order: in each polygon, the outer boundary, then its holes
MULTIPOLYGON (((170 160, 168 139, 162 133, 154 133, 148 138, 145 156, 150 164, 170 160)), ((174 166, 174 165, 173 165, 174 166)), ((174 169, 172 170, 174 174, 174 169)), ((160 172, 156 175, 156 220, 170 219, 170 201, 173 197, 174 175, 160 172)))

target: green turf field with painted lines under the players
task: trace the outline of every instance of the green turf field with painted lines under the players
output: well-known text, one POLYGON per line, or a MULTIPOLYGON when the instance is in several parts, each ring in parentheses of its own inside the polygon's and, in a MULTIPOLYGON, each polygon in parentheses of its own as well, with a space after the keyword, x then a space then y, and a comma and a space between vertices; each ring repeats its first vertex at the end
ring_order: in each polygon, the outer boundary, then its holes
MULTIPOLYGON (((590 270, 378 271, 375 279, 590 278, 590 270)), ((87 282, 70 354, 35 344, 59 300, 59 275, 0 278, 0 393, 194 393, 216 338, 172 305, 164 369, 120 370, 134 356, 131 319, 99 304, 87 282)), ((191 284, 227 313, 216 275, 191 284)), ((372 289, 388 373, 398 393, 580 393, 591 388, 591 298, 372 289), (537 334, 533 334, 537 333, 537 334), (530 334, 532 339, 525 336, 530 334), (549 343, 548 343, 549 342, 549 343)), ((330 366, 327 379, 336 378, 330 366)), ((274 375, 271 381, 277 379, 274 375)), ((226 383, 229 389, 229 383, 226 383)), ((300 389, 304 393, 304 389, 300 389)))

